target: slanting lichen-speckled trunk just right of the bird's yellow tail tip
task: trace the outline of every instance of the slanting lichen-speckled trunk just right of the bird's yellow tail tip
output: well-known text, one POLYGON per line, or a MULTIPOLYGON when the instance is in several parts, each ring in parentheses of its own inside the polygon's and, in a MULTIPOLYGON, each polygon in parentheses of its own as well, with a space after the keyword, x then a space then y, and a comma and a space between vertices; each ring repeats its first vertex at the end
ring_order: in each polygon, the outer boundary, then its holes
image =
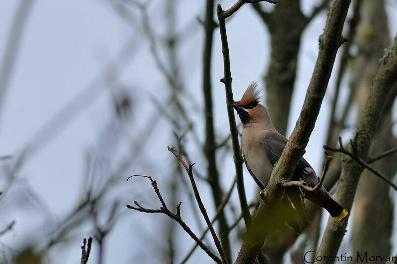
MULTIPOLYGON (((376 131, 378 128, 385 102, 397 80, 397 38, 395 38, 393 45, 386 50, 381 62, 378 73, 372 81, 368 99, 360 114, 357 132, 364 130, 376 131)), ((361 158, 366 159, 370 147, 368 137, 358 135, 355 144, 357 146, 357 154, 361 158)), ((343 157, 342 171, 335 193, 335 200, 347 211, 351 211, 354 194, 362 171, 363 167, 352 158, 343 157)), ((335 222, 330 218, 317 256, 336 256, 346 230, 348 218, 349 215, 339 222, 335 222)))

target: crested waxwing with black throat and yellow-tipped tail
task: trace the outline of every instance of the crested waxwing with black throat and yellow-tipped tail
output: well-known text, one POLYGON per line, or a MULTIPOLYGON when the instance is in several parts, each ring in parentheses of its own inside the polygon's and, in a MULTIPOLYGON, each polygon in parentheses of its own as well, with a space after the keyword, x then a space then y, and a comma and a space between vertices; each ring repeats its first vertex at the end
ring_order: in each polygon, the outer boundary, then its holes
MULTIPOLYGON (((263 190, 288 140, 274 128, 266 107, 259 103, 260 94, 258 83, 253 82, 248 86, 240 102, 232 106, 243 123, 241 139, 244 162, 255 182, 263 190)), ((318 183, 316 172, 303 157, 299 159, 291 180, 304 180, 310 187, 318 183)), ((335 221, 340 221, 348 214, 324 186, 314 192, 305 191, 299 186, 292 186, 287 187, 285 192, 295 207, 294 212, 298 213, 297 218, 300 218, 301 224, 303 222, 306 226, 309 226, 310 221, 306 214, 304 199, 326 209, 335 221)), ((291 202, 287 201, 285 196, 281 202, 281 206, 286 207, 286 210, 292 210, 291 202)), ((301 233, 295 218, 285 221, 299 234, 301 233)))

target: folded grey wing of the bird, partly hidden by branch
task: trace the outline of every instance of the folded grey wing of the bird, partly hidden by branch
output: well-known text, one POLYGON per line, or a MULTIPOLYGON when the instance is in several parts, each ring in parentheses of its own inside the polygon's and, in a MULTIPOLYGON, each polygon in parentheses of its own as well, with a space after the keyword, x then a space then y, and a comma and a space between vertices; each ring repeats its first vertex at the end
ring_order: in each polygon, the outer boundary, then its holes
MULTIPOLYGON (((270 160, 271 165, 277 162, 278 158, 280 158, 282 151, 287 143, 287 139, 283 137, 281 134, 276 132, 268 132, 262 138, 262 146, 267 154, 267 157, 270 160)), ((309 163, 304 159, 301 158, 298 161, 297 166, 292 174, 292 180, 299 181, 301 178, 308 178, 304 177, 306 173, 311 174, 314 172, 313 168, 309 165, 309 163), (306 171, 307 170, 307 171, 306 171)), ((310 175, 312 176, 312 175, 310 175)), ((310 177, 309 177, 310 179, 310 177)), ((311 183, 311 182, 310 182, 311 183)), ((310 185, 309 183, 309 185, 310 185)), ((289 198, 291 199, 296 211, 301 216, 300 218, 304 221, 305 225, 309 224, 308 217, 305 210, 305 192, 301 187, 293 186, 286 189, 286 193, 288 194, 289 198)))

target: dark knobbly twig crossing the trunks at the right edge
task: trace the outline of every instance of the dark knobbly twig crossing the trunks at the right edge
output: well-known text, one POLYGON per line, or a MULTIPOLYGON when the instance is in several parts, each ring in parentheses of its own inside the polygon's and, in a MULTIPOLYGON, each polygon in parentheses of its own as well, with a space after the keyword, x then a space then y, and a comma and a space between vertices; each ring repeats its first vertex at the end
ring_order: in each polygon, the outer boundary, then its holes
MULTIPOLYGON (((357 142, 356 140, 354 140, 354 142, 357 142)), ((352 143, 351 143, 352 144, 352 143)), ((352 144, 353 145, 353 144, 352 144)), ((354 149, 354 147, 352 146, 352 148, 354 149)), ((375 169, 374 167, 372 167, 371 165, 369 165, 368 163, 370 162, 365 162, 364 159, 360 158, 360 156, 358 156, 358 154, 353 154, 349 151, 347 151, 346 149, 343 148, 342 145, 342 141, 341 138, 339 137, 339 148, 334 148, 331 147, 329 145, 324 145, 324 149, 326 150, 330 150, 330 151, 335 151, 335 152, 341 152, 343 154, 346 154, 347 156, 349 156, 350 158, 353 158, 354 160, 356 160, 361 166, 369 169, 370 171, 372 171, 375 175, 377 175, 378 177, 380 177, 382 180, 384 180, 385 182, 387 182, 390 186, 392 186, 396 191, 397 191, 397 186, 388 178, 385 176, 385 174, 383 174, 382 172, 380 172, 379 170, 375 169)), ((376 159, 373 159, 371 162, 381 159, 393 152, 397 151, 397 147, 393 148, 377 157, 375 157, 376 159)))

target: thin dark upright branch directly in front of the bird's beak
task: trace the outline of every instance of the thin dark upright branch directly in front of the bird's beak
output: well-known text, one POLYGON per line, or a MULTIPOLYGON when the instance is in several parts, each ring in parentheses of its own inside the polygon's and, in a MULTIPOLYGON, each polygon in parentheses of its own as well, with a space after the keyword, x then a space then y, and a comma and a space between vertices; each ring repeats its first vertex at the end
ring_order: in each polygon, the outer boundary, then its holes
POLYGON ((216 8, 216 13, 218 15, 219 30, 222 41, 223 68, 224 68, 224 77, 221 79, 221 82, 225 84, 225 90, 226 90, 227 115, 229 117, 230 133, 232 135, 233 159, 234 159, 234 166, 236 169, 237 191, 239 193, 240 206, 244 217, 245 225, 248 229, 251 225, 251 213, 248 208, 247 198, 245 196, 245 189, 244 189, 244 179, 243 179, 244 160, 243 157, 241 156, 236 119, 234 118, 234 109, 231 106, 232 104, 234 104, 234 100, 233 100, 233 92, 232 92, 232 77, 230 72, 229 45, 227 43, 226 25, 225 25, 225 18, 223 17, 222 14, 223 12, 224 11, 222 10, 222 7, 220 6, 220 4, 218 4, 216 8))

